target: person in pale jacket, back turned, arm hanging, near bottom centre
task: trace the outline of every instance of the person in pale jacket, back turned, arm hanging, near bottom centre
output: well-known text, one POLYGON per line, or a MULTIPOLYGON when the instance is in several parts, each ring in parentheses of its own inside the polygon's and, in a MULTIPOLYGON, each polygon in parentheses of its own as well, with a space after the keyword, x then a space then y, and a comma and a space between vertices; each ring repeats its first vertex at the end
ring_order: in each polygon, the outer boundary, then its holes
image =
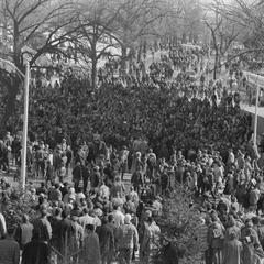
POLYGON ((124 224, 120 227, 120 261, 121 264, 131 264, 133 249, 139 249, 139 233, 134 224, 131 223, 131 215, 124 217, 124 224))

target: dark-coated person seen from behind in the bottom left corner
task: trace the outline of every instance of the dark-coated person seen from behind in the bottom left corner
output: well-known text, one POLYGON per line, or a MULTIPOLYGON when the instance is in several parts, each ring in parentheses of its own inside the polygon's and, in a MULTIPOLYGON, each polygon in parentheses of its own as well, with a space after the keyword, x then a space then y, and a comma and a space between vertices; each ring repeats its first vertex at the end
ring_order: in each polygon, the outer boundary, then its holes
POLYGON ((0 263, 1 264, 19 264, 20 263, 20 245, 13 239, 14 227, 8 227, 7 237, 0 240, 0 263))

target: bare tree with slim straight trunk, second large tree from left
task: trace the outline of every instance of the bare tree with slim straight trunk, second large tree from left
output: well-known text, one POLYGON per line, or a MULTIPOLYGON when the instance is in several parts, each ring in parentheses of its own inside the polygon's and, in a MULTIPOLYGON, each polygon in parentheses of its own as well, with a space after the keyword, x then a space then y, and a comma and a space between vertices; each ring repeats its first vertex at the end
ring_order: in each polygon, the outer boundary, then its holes
POLYGON ((103 56, 111 56, 111 47, 119 47, 113 42, 113 24, 119 9, 111 0, 85 1, 80 6, 79 30, 76 32, 76 51, 81 59, 91 63, 91 85, 96 88, 97 66, 103 56))

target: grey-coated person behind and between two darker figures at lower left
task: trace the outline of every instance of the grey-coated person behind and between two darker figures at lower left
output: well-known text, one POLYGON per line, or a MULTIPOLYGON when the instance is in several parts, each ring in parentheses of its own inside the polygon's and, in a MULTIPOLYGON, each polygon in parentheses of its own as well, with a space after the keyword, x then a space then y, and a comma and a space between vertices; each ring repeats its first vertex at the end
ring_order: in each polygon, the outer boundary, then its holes
POLYGON ((20 244, 20 249, 23 250, 25 244, 29 243, 33 234, 33 224, 30 222, 28 215, 22 216, 22 223, 18 226, 15 230, 15 240, 20 244))

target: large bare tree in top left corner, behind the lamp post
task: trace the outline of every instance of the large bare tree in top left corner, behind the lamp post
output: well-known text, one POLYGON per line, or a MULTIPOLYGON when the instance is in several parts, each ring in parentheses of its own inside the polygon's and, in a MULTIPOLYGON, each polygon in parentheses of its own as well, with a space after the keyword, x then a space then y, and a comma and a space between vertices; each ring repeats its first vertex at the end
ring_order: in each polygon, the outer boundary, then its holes
MULTIPOLYGON (((37 58, 44 54, 66 56, 62 44, 67 43, 70 34, 75 32, 74 22, 77 16, 78 13, 70 0, 0 0, 0 26, 10 46, 6 56, 10 57, 22 72, 24 55, 31 67, 36 65, 37 58)), ((6 76, 1 76, 1 81, 6 76)), ((4 84, 9 84, 9 87, 3 123, 14 111, 20 78, 15 77, 4 84)))

